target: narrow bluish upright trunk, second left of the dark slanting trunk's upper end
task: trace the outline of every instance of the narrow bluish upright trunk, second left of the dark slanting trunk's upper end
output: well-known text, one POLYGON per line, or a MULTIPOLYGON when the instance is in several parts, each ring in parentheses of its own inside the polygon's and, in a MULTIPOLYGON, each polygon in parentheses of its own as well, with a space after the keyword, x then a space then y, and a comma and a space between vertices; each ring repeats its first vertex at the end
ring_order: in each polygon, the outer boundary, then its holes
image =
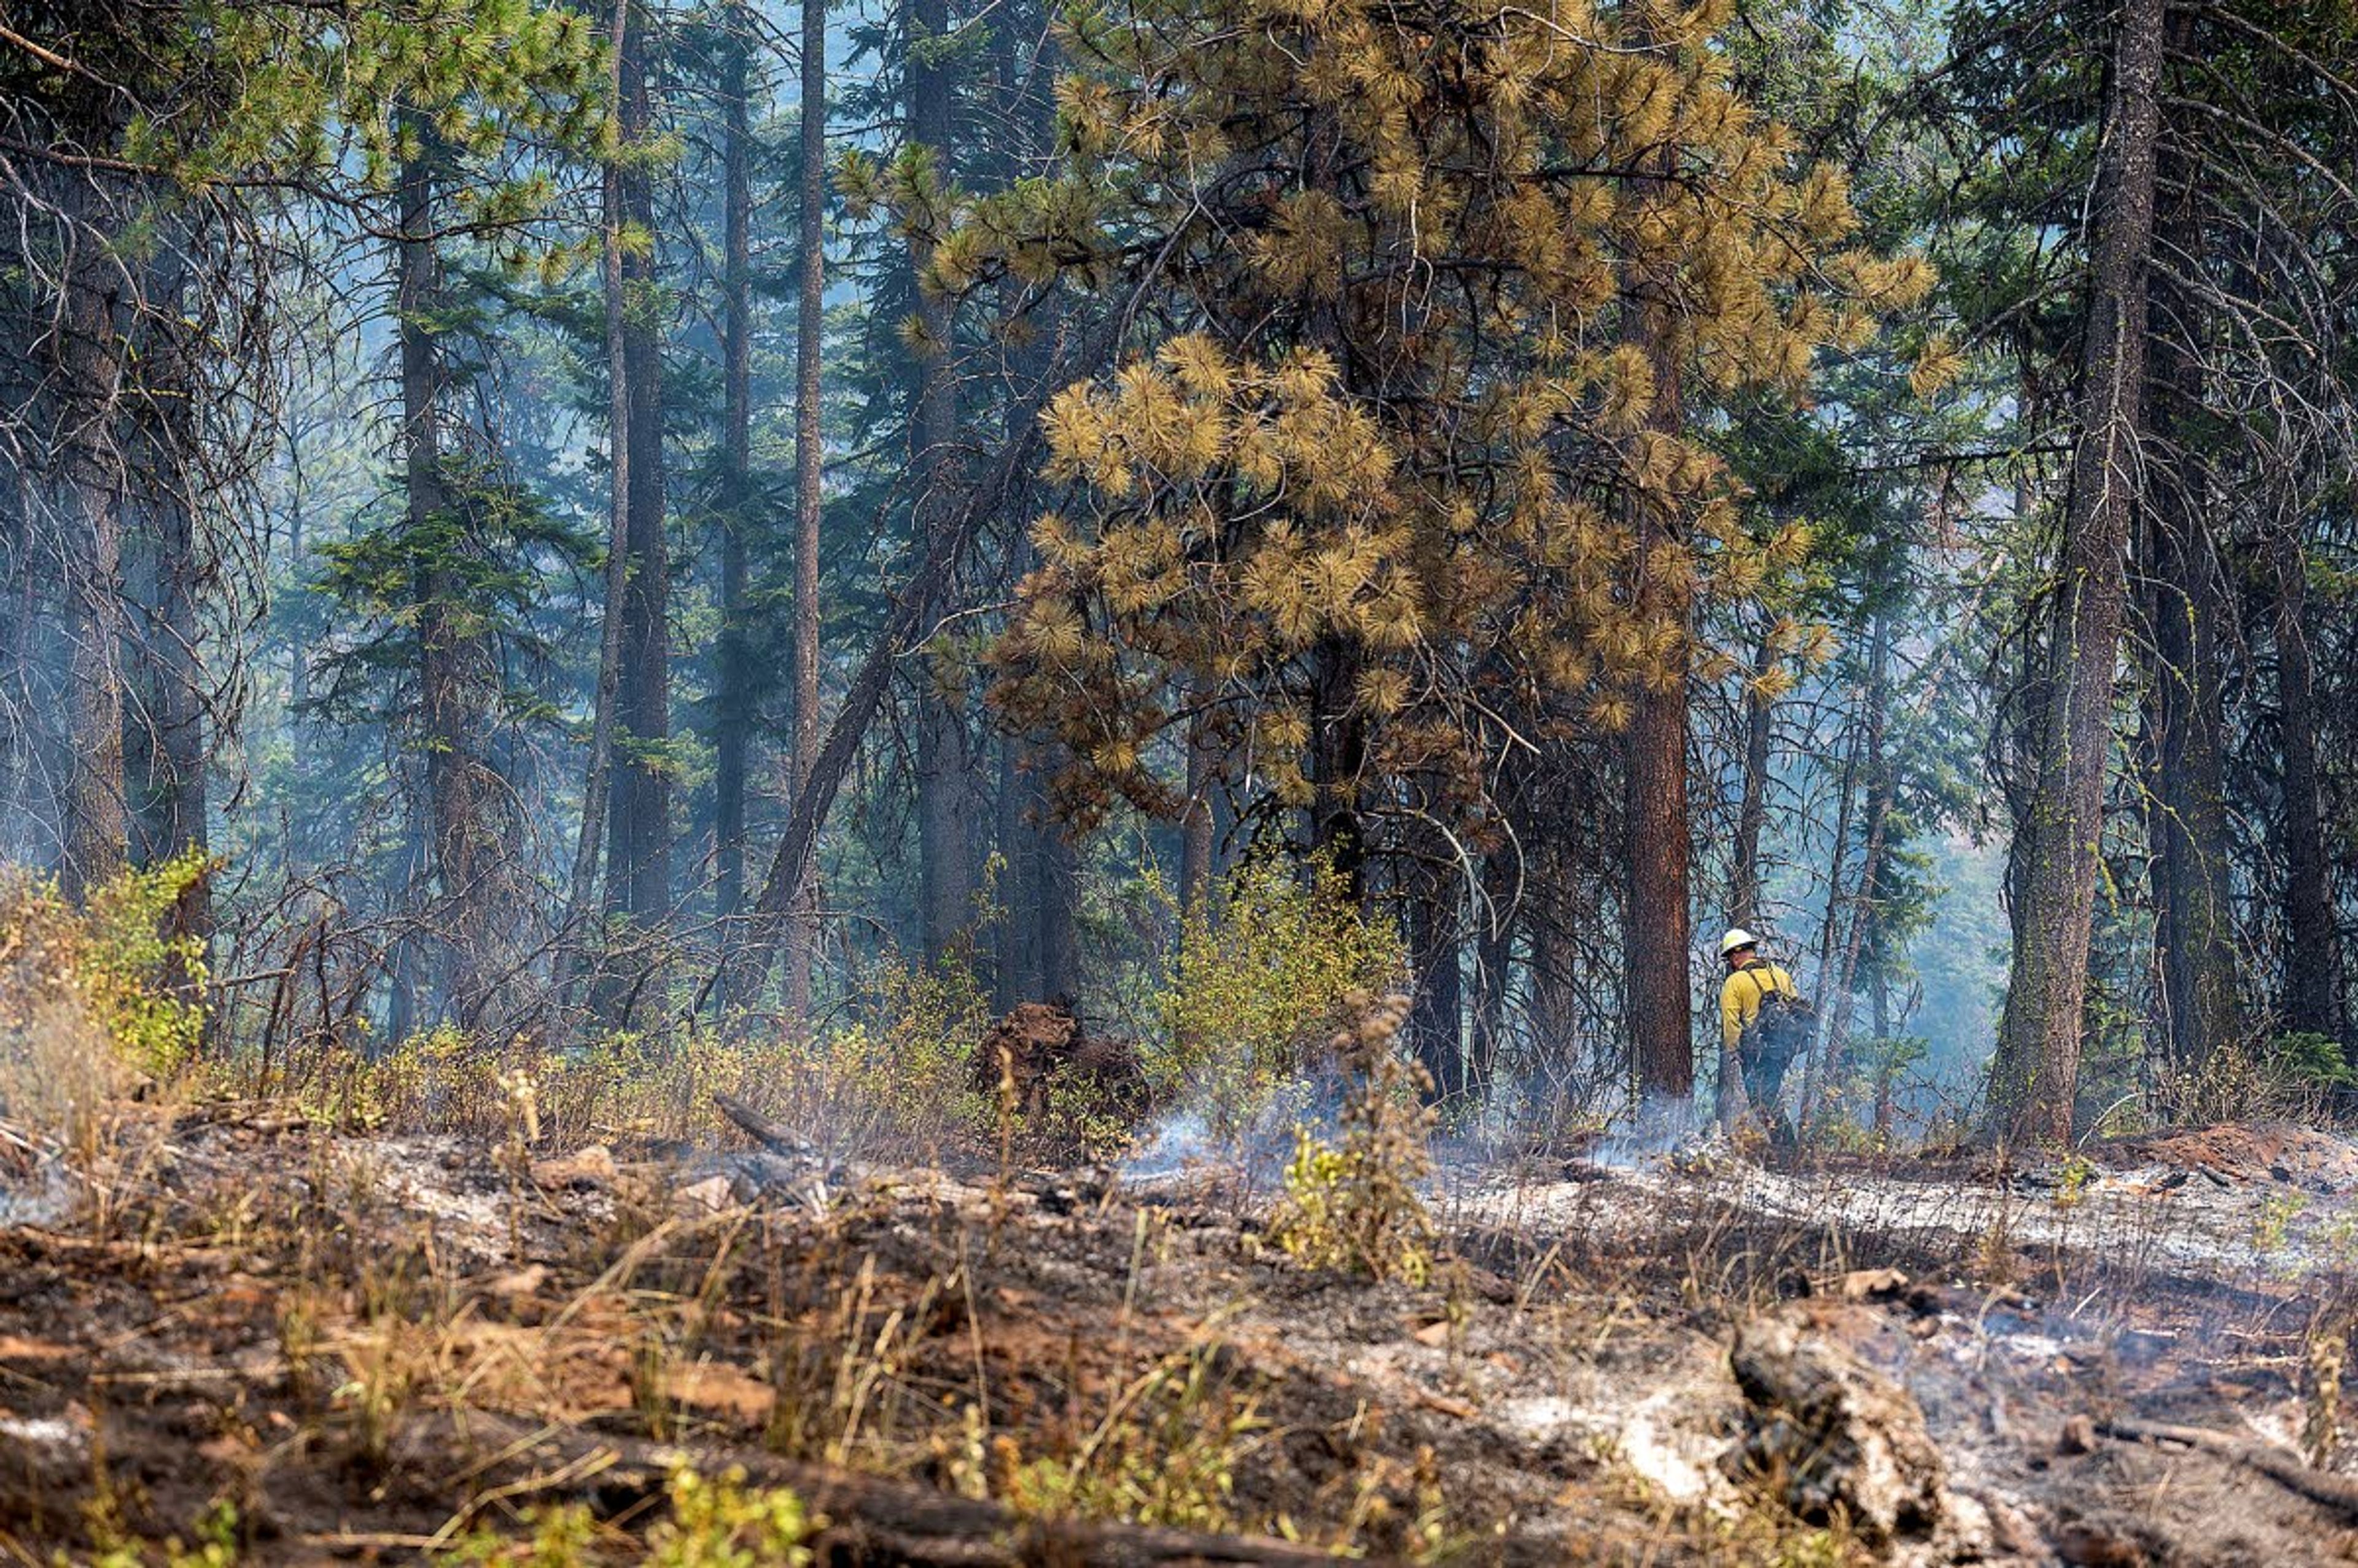
MULTIPOLYGON (((722 946, 745 903, 745 769, 752 750, 752 648, 745 625, 752 531, 752 12, 731 0, 722 26, 722 630, 712 703, 712 913, 722 946)), ((724 997, 726 1000, 726 997, 724 997)))

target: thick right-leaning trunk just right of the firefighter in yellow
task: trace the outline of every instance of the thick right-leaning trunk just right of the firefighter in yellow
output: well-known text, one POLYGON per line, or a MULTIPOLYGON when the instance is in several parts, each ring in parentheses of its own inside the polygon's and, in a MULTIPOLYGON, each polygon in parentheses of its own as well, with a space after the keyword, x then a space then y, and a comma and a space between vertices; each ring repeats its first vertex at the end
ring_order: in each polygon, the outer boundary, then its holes
POLYGON ((2080 356, 2080 434, 2054 592, 2051 689, 2037 733, 2028 861, 2014 910, 2014 964, 1990 1063, 1985 1134, 2066 1141, 2080 1085, 2089 934, 2113 681, 2127 578, 2122 552, 2141 483, 2146 262, 2153 248, 2162 0, 2125 0, 2106 92, 2094 288, 2080 356))

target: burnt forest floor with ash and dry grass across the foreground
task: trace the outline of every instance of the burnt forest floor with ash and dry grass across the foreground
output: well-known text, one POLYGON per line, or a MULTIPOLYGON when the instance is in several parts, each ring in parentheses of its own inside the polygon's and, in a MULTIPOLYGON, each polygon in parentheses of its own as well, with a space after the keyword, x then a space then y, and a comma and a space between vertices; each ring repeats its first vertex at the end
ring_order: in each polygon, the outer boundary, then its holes
POLYGON ((686 1460, 835 1563, 2358 1561, 2327 1134, 1453 1162, 1424 1285, 1217 1170, 790 1165, 269 1103, 21 1158, 0 1554, 637 1561, 686 1460))

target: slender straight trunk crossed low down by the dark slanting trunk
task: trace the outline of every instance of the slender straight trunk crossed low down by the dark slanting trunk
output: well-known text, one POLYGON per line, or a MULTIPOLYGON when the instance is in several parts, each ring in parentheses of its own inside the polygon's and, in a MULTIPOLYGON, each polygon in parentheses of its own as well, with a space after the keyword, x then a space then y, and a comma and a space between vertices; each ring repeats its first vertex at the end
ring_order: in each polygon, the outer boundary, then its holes
MULTIPOLYGON (((802 0, 802 207, 797 212, 802 292, 795 302, 795 797, 818 766, 818 502, 821 347, 828 304, 828 5, 802 0)), ((818 969, 818 887, 804 872, 792 889, 785 931, 785 1016, 811 1016, 818 969)))

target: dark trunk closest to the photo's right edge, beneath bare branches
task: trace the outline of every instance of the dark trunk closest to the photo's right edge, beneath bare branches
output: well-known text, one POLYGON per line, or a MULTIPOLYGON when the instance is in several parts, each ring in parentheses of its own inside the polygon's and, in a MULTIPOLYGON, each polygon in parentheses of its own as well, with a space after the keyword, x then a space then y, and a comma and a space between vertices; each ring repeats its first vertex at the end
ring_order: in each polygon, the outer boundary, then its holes
POLYGON ((2275 707, 2285 755, 2285 802, 2278 823, 2285 837, 2285 1028, 2349 1040, 2318 769, 2308 561, 2290 533, 2278 533, 2268 542, 2268 556, 2275 575, 2275 707))

